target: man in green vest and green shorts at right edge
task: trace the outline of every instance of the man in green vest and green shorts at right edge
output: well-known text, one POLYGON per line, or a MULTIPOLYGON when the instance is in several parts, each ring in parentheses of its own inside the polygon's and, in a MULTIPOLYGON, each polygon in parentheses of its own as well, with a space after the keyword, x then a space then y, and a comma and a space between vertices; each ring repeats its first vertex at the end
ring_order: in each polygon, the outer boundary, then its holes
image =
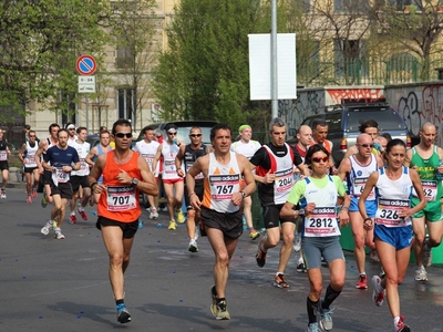
MULTIPOLYGON (((420 143, 408 151, 405 166, 419 173, 423 186, 426 206, 412 216, 414 230, 415 280, 426 281, 425 268, 432 264, 431 249, 439 247, 443 235, 443 219, 440 199, 443 197, 442 180, 439 174, 443 174, 443 149, 434 145, 436 128, 430 122, 422 125, 419 132, 420 143), (427 227, 429 239, 426 240, 427 227)), ((413 193, 412 207, 420 203, 416 193, 413 193)))

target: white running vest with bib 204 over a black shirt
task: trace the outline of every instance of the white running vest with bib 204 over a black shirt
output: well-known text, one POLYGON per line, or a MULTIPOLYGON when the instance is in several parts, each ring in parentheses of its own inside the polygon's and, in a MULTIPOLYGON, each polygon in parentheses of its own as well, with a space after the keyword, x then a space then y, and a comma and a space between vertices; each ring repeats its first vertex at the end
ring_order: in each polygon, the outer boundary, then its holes
POLYGON ((286 145, 288 153, 284 157, 276 156, 267 145, 264 145, 269 156, 274 157, 277 166, 276 172, 274 173, 276 175, 274 181, 274 203, 276 205, 286 203, 286 198, 288 198, 293 185, 293 162, 290 153, 291 147, 288 144, 286 145))

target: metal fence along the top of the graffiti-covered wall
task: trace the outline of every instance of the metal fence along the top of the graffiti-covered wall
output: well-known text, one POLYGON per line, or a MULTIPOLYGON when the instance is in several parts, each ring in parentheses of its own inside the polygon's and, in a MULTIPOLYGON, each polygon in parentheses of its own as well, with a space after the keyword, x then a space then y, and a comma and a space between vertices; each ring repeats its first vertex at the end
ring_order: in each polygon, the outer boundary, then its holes
POLYGON ((307 59, 297 63, 297 84, 305 87, 419 83, 440 79, 443 79, 443 59, 423 63, 405 53, 387 60, 356 58, 321 62, 307 59))

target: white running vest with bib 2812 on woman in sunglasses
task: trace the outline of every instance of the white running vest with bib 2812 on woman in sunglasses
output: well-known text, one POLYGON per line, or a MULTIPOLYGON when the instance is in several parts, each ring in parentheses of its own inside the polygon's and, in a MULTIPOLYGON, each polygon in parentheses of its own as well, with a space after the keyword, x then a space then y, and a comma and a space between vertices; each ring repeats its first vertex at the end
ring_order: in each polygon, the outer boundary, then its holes
POLYGON ((317 187, 309 177, 306 180, 305 197, 307 203, 316 203, 313 214, 305 216, 305 237, 333 237, 340 236, 340 227, 337 221, 337 186, 331 176, 328 176, 328 185, 324 188, 317 187))

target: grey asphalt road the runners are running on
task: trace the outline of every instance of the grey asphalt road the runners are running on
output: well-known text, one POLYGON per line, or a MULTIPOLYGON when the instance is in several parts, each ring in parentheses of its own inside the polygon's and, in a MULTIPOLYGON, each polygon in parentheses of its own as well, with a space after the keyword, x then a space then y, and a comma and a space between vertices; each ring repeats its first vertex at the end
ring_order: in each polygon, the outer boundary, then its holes
MULTIPOLYGON (((40 196, 40 195, 39 195, 40 196)), ((39 197, 40 198, 40 197, 39 197)), ((272 287, 278 250, 264 268, 255 262, 257 241, 244 234, 234 255, 227 288, 231 320, 216 321, 209 311, 214 255, 206 238, 199 252, 187 251, 185 225, 167 230, 167 216, 147 219, 136 234, 125 276, 125 303, 132 322, 116 321, 107 279, 109 259, 95 229, 96 217, 70 225, 64 240, 40 234, 51 206, 25 204, 23 188, 8 189, 0 200, 0 331, 305 331, 308 279, 296 271, 292 256, 286 271, 288 289, 272 287)), ((52 235, 52 234, 51 234, 52 235)), ((358 272, 347 256, 347 283, 334 302, 333 331, 393 331, 387 303, 377 308, 371 290, 354 288, 358 272)), ((368 274, 379 271, 368 263, 368 274)), ((410 268, 400 287, 402 314, 412 331, 443 331, 443 269, 429 269, 429 282, 413 280, 410 268)), ((323 276, 328 270, 323 268, 323 276)), ((328 280, 328 278, 326 278, 328 280)), ((324 281, 327 284, 327 281, 324 281)))

